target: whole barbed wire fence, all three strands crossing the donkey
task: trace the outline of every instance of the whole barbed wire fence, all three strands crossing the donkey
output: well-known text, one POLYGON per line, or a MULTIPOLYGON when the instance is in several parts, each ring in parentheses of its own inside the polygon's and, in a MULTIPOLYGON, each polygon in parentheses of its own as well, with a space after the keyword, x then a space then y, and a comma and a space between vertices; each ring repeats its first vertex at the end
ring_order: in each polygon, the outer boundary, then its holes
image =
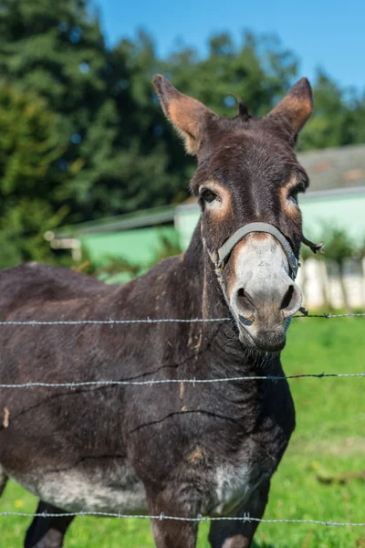
MULTIPOLYGON (((336 318, 360 318, 365 317, 365 312, 360 313, 346 313, 346 314, 305 314, 302 316, 294 316, 294 319, 309 319, 317 318, 323 320, 332 320, 336 318)), ((174 319, 174 318, 162 318, 162 319, 138 319, 138 320, 59 320, 59 321, 0 321, 0 326, 51 326, 51 325, 120 325, 120 324, 137 324, 137 323, 204 323, 204 322, 223 322, 232 321, 232 318, 193 318, 193 319, 174 319)), ((281 380, 296 380, 301 378, 365 378, 364 373, 353 374, 293 374, 293 375, 252 375, 252 376, 235 376, 224 377, 215 379, 151 379, 147 381, 129 381, 129 380, 100 380, 100 381, 85 381, 85 382, 69 382, 69 383, 43 383, 43 382, 28 382, 19 384, 0 384, 0 388, 36 388, 36 387, 54 387, 54 388, 75 388, 78 386, 109 386, 109 385, 164 385, 164 384, 181 384, 187 383, 192 385, 210 384, 210 383, 227 383, 235 381, 256 381, 256 380, 268 380, 268 381, 281 381, 281 380)), ((20 512, 20 511, 2 511, 0 512, 0 518, 3 517, 25 517, 25 518, 63 518, 63 517, 108 517, 117 519, 141 519, 141 520, 172 520, 177 522, 260 522, 260 523, 292 523, 292 524, 312 524, 321 525, 326 527, 364 527, 365 522, 336 522, 336 521, 321 521, 321 520, 293 520, 293 519, 276 519, 267 520, 250 516, 249 513, 244 513, 243 516, 202 516, 198 514, 196 517, 181 517, 181 516, 169 516, 163 512, 159 515, 150 514, 125 514, 119 512, 107 512, 107 511, 75 511, 75 512, 57 512, 51 513, 47 511, 43 512, 20 512)))

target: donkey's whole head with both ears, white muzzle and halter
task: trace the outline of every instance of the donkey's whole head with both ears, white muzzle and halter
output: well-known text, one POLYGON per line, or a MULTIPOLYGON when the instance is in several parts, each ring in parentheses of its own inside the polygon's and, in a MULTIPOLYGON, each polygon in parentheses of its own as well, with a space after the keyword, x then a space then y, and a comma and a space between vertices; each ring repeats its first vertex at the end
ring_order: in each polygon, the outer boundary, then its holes
POLYGON ((187 152, 197 157, 191 190, 202 208, 203 245, 240 340, 277 352, 302 302, 294 281, 302 239, 297 194, 308 175, 294 147, 312 111, 308 80, 257 119, 242 103, 235 118, 222 118, 164 77, 153 83, 187 152))

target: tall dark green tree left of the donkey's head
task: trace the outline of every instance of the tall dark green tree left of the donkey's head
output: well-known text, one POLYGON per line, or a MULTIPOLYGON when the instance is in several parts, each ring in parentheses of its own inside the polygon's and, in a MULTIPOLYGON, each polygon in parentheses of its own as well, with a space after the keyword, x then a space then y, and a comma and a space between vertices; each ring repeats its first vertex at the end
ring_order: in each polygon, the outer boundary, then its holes
POLYGON ((162 138, 153 102, 151 76, 162 63, 151 38, 140 33, 108 49, 88 0, 2 6, 1 72, 47 101, 68 142, 55 166, 63 176, 57 205, 68 205, 68 222, 186 197, 191 170, 171 128, 162 138))

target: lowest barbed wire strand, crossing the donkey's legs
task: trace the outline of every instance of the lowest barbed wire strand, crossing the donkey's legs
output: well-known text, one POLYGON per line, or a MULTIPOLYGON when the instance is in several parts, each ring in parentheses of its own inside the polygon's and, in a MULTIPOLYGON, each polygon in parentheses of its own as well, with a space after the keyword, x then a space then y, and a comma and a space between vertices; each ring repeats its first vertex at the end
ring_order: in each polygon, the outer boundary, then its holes
POLYGON ((137 520, 173 520, 176 522, 260 522, 260 523, 310 523, 315 525, 326 525, 327 527, 365 527, 365 523, 352 523, 352 522, 332 522, 321 520, 265 520, 260 518, 253 518, 248 513, 243 516, 216 516, 216 517, 204 517, 199 514, 196 518, 185 518, 181 516, 167 516, 163 512, 159 515, 144 515, 144 514, 123 514, 121 512, 108 512, 108 511, 71 511, 71 512, 59 512, 51 513, 47 511, 42 512, 22 512, 22 511, 2 511, 0 517, 22 517, 22 518, 67 518, 77 516, 94 516, 104 518, 118 518, 118 519, 137 519, 137 520))

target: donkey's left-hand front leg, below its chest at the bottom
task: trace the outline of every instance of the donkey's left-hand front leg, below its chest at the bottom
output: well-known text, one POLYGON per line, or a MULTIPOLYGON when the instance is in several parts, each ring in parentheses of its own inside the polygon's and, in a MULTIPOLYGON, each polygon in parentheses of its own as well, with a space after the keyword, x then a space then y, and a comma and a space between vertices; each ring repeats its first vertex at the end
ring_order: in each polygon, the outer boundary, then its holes
MULTIPOLYGON (((179 501, 178 497, 173 500, 171 496, 166 497, 166 491, 157 497, 149 498, 149 507, 152 515, 177 516, 177 517, 195 517, 199 508, 197 501, 184 497, 185 501, 179 501), (188 502, 186 500, 190 499, 188 502)), ((198 523, 180 522, 175 520, 156 519, 151 520, 151 530, 156 548, 195 548, 198 523)))

